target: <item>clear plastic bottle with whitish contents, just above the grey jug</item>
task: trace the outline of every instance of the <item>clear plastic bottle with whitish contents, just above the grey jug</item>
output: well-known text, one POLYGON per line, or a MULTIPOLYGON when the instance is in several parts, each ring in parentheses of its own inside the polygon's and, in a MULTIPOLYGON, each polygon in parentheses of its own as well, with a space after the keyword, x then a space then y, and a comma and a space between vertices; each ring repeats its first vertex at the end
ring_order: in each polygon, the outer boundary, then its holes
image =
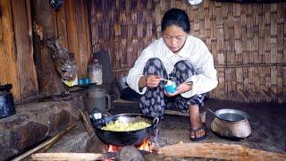
POLYGON ((88 64, 88 77, 91 83, 102 84, 102 65, 98 63, 96 58, 91 58, 88 64))

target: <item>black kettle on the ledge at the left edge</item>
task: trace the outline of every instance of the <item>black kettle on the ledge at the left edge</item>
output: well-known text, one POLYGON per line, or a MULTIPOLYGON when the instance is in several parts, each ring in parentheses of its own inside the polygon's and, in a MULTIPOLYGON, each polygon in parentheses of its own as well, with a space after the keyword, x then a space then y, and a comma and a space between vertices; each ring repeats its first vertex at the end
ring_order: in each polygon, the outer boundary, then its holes
POLYGON ((0 85, 0 119, 16 113, 11 89, 12 84, 0 85))

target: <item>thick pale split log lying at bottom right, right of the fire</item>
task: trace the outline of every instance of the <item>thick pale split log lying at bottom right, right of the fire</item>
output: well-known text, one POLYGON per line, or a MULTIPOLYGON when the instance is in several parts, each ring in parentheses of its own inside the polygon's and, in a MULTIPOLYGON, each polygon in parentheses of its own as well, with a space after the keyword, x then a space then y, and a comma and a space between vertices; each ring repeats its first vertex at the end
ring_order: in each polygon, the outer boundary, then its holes
POLYGON ((158 154, 165 157, 203 157, 227 160, 285 160, 286 155, 235 144, 183 143, 164 146, 158 154))

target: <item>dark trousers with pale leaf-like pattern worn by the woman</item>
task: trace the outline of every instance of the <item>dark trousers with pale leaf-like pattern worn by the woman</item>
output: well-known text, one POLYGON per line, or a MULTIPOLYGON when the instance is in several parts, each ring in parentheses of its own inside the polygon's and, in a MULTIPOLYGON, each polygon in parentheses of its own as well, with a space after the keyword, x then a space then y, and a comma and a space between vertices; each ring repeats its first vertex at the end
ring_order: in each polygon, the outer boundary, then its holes
MULTIPOLYGON (((167 72, 158 58, 151 58, 147 61, 143 70, 143 75, 161 75, 164 79, 168 79, 167 72)), ((190 76, 198 74, 193 66, 188 61, 179 61, 174 65, 171 72, 172 81, 180 85, 185 82, 190 76)), ((170 77, 170 74, 169 74, 170 77)), ((198 94, 193 97, 167 97, 164 95, 164 81, 161 81, 155 89, 147 88, 145 94, 140 98, 139 107, 143 114, 148 114, 153 117, 164 117, 164 109, 178 110, 182 113, 189 112, 190 105, 204 106, 204 97, 206 94, 198 94)))

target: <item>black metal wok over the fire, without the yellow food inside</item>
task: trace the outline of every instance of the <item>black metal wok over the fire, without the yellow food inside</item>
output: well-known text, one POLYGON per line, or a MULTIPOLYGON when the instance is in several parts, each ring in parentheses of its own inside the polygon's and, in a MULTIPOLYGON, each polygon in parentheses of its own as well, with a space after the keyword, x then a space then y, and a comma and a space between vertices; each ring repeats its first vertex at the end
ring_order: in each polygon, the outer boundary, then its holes
POLYGON ((91 114, 91 123, 96 129, 97 137, 105 142, 105 144, 111 144, 114 146, 129 146, 129 145, 139 145, 144 140, 146 140, 151 135, 154 135, 154 130, 158 125, 158 118, 153 118, 145 114, 115 114, 110 116, 105 116, 101 119, 96 119, 91 114), (106 123, 114 122, 119 120, 121 122, 147 122, 151 126, 137 130, 137 131, 105 131, 102 127, 106 123))

